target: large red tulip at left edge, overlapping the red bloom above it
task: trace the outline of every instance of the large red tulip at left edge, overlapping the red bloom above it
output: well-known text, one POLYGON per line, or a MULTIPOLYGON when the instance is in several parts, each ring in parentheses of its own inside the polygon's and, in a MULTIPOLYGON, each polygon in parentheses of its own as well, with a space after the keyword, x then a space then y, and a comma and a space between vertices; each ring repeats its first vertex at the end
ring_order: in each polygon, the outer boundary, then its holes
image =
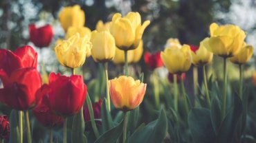
POLYGON ((0 69, 3 88, 0 89, 0 101, 17 110, 28 110, 35 106, 35 93, 42 85, 37 69, 26 67, 16 69, 10 76, 0 69))

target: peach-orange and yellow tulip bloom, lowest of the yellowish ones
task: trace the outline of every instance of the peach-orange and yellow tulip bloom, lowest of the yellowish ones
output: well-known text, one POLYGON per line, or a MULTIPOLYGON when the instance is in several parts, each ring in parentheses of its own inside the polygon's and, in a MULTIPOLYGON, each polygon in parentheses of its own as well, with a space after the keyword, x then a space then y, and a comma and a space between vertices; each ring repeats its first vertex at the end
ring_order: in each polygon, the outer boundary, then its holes
POLYGON ((131 76, 119 76, 109 80, 111 100, 116 109, 130 111, 143 101, 147 84, 134 80, 131 76))

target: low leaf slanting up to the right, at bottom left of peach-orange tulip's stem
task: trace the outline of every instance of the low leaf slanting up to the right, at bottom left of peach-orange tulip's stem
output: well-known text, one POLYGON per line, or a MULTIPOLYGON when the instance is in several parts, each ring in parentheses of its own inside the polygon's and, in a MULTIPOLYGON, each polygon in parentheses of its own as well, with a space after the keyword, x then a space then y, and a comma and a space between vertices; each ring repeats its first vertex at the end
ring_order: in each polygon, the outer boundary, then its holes
POLYGON ((109 129, 108 131, 104 132, 95 143, 113 143, 118 140, 120 135, 122 135, 122 126, 123 121, 118 124, 118 126, 109 129))

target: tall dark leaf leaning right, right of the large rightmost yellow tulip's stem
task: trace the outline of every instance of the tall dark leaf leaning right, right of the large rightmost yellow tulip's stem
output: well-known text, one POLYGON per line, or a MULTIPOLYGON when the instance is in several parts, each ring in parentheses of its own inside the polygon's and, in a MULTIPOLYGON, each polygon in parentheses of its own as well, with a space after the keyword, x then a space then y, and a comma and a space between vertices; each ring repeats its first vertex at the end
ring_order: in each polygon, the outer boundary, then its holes
POLYGON ((217 142, 218 143, 226 143, 232 142, 233 137, 236 132, 237 122, 241 117, 241 113, 243 111, 243 105, 241 103, 240 98, 235 95, 234 97, 234 106, 228 112, 223 122, 221 123, 219 132, 217 134, 217 142))

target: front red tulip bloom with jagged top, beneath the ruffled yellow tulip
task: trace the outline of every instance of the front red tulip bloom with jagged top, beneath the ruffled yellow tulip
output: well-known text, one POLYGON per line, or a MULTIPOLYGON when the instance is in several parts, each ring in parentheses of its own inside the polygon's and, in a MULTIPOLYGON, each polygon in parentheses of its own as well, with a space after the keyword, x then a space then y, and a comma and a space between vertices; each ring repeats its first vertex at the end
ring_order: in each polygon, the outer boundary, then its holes
POLYGON ((51 73, 48 87, 51 109, 58 115, 74 115, 82 109, 87 91, 82 76, 51 73))

